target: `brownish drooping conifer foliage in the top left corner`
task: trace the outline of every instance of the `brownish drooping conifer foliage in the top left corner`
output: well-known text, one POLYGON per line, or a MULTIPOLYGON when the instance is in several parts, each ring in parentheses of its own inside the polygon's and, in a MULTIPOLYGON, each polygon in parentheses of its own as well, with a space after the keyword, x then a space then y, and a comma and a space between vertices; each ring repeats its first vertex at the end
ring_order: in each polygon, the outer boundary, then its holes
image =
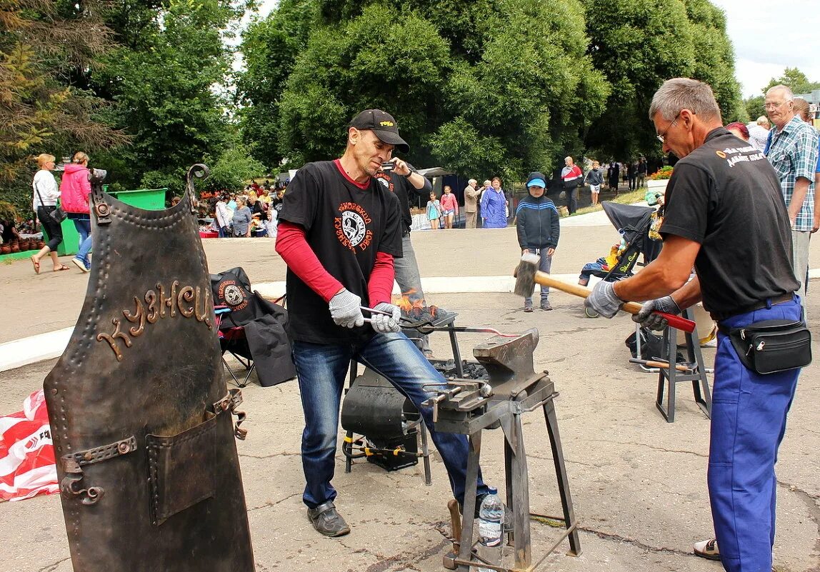
POLYGON ((106 50, 111 35, 98 2, 8 0, 0 7, 0 192, 29 211, 30 158, 62 157, 67 149, 123 143, 121 133, 99 122, 105 102, 66 83, 106 50), (20 196, 15 190, 28 188, 20 196))

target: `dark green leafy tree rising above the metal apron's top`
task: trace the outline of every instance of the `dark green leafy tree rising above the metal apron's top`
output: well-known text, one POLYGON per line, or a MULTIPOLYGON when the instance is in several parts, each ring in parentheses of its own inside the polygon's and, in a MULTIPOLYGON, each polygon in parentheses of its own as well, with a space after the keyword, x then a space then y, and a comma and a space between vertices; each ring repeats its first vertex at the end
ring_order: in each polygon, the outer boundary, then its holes
POLYGON ((191 164, 227 147, 235 128, 220 90, 230 71, 224 30, 242 13, 230 0, 166 0, 123 3, 109 15, 121 44, 88 82, 112 101, 109 123, 132 136, 100 157, 120 184, 179 193, 191 164))

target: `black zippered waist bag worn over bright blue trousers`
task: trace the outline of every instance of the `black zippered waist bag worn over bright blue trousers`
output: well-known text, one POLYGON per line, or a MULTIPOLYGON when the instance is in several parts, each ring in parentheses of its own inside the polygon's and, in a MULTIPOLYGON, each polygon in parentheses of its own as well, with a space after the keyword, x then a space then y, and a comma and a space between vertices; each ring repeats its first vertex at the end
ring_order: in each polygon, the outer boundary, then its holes
POLYGON ((812 362, 812 334, 804 321, 763 320, 729 330, 731 345, 749 370, 774 374, 812 362))

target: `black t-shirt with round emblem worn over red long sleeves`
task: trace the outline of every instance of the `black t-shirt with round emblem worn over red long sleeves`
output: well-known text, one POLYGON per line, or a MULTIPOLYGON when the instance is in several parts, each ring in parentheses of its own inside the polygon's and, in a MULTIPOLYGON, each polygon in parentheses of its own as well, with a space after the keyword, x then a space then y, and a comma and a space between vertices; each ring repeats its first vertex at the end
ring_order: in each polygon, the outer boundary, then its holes
MULTIPOLYGON (((279 218, 305 229, 307 244, 321 266, 370 306, 367 281, 376 252, 402 255, 397 198, 376 180, 359 188, 335 161, 308 163, 288 185, 279 218)), ((288 269, 286 288, 291 338, 311 343, 359 343, 371 325, 342 328, 327 302, 288 269)))

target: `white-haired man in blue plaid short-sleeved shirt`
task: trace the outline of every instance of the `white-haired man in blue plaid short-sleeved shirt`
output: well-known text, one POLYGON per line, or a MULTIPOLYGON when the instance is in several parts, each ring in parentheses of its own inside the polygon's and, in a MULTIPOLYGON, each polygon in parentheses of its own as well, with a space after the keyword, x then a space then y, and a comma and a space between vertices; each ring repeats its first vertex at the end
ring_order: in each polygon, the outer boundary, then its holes
POLYGON ((814 226, 814 170, 818 164, 818 134, 795 116, 794 95, 785 85, 766 92, 763 106, 772 130, 767 158, 780 177, 781 191, 791 221, 792 265, 805 312, 806 275, 809 271, 809 238, 814 226))

